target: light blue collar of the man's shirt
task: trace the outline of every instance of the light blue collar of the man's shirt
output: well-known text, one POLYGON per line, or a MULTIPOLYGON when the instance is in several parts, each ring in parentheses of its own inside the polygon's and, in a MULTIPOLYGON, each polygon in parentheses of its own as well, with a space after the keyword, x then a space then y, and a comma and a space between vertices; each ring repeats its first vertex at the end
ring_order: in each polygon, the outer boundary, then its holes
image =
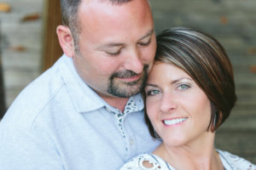
MULTIPOLYGON (((95 111, 102 107, 108 108, 111 111, 118 111, 113 108, 113 106, 108 105, 96 92, 91 89, 84 81, 79 77, 79 74, 74 68, 73 59, 67 57, 63 54, 61 57, 61 65, 59 66, 61 71, 61 76, 65 84, 67 85, 67 90, 71 99, 73 100, 73 105, 79 112, 95 111)), ((132 111, 142 111, 143 110, 143 98, 141 94, 132 96, 127 104, 125 105, 125 111, 130 110, 132 106, 132 111)))

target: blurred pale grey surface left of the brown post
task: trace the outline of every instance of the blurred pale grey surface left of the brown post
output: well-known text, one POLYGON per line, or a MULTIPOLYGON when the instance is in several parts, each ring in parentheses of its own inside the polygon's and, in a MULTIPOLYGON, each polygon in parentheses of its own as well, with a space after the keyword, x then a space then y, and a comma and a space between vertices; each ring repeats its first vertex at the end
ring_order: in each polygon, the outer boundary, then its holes
POLYGON ((44 0, 5 0, 0 39, 6 104, 41 73, 44 0))

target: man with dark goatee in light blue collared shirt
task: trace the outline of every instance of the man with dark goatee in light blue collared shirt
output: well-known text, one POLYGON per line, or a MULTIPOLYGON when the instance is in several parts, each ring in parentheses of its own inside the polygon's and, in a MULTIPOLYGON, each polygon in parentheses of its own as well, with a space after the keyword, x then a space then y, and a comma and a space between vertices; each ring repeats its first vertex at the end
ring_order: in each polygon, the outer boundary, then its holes
POLYGON ((61 0, 63 56, 0 123, 4 170, 114 170, 154 150, 139 94, 156 48, 147 0, 61 0))

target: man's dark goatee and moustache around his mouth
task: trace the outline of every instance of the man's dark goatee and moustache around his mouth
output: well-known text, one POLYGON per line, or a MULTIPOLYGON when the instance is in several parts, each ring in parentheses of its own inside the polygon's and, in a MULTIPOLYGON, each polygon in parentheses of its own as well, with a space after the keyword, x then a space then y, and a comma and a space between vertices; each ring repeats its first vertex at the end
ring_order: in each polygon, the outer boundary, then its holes
POLYGON ((137 76, 134 71, 116 72, 109 78, 108 94, 119 98, 129 98, 138 94, 145 86, 148 77, 148 65, 143 65, 141 77, 134 82, 119 82, 119 78, 129 78, 137 76), (117 79, 115 79, 117 77, 117 79), (117 81, 116 81, 117 80, 117 81))

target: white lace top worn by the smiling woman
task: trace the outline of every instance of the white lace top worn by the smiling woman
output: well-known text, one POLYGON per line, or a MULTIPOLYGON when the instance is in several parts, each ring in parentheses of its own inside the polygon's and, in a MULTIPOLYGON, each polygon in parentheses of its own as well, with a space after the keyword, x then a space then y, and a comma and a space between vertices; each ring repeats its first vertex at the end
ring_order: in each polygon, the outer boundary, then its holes
MULTIPOLYGON (((225 170, 256 170, 256 165, 228 151, 217 150, 225 170)), ((169 163, 154 154, 142 154, 125 163, 120 170, 175 170, 169 163), (143 161, 149 161, 153 167, 144 167, 143 161)))

